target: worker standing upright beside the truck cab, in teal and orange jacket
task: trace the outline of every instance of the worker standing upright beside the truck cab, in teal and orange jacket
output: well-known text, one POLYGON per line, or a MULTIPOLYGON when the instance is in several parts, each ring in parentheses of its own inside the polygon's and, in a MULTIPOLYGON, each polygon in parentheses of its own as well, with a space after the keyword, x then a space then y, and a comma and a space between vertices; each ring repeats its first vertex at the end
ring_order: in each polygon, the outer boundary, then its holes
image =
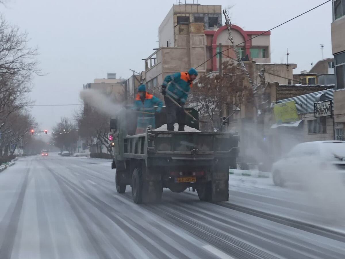
POLYGON ((146 92, 145 84, 141 84, 134 101, 134 109, 139 111, 136 134, 144 133, 146 128, 150 125, 152 129, 156 128, 155 112, 160 112, 162 107, 163 102, 146 92), (155 106, 158 106, 156 111, 155 106))

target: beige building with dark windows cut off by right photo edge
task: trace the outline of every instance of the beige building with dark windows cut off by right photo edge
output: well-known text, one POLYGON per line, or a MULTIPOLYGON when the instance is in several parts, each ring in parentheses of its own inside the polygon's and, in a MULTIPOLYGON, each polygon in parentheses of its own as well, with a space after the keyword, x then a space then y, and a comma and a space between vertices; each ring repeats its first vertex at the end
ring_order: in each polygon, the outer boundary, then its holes
POLYGON ((345 0, 333 1, 332 53, 336 76, 334 119, 337 135, 344 136, 345 127, 345 0))

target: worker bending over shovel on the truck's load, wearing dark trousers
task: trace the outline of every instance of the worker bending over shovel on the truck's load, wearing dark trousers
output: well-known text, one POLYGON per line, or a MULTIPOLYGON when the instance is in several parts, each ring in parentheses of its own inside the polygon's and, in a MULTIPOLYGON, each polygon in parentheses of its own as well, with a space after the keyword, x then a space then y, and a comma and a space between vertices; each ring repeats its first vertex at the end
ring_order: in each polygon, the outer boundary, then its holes
POLYGON ((161 93, 164 95, 168 130, 174 130, 174 123, 177 119, 178 131, 185 131, 186 113, 183 107, 197 76, 198 72, 191 68, 188 72, 175 73, 165 77, 161 93), (170 84, 168 85, 168 83, 170 84), (169 97, 174 99, 182 108, 178 107, 169 97))

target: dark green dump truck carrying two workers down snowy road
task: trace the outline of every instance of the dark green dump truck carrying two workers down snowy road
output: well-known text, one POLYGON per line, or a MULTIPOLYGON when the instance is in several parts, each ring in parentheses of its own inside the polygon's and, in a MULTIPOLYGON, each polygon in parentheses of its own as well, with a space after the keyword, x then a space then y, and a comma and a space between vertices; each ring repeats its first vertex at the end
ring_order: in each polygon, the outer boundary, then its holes
MULTIPOLYGON (((198 120, 198 112, 186 108, 198 120)), ((201 201, 228 201, 229 168, 236 168, 239 136, 234 132, 164 131, 148 127, 137 134, 133 110, 123 110, 110 120, 116 169, 116 190, 131 186, 135 203, 159 202, 163 188, 197 191, 201 201)), ((165 107, 156 114, 156 127, 166 124, 165 107)), ((186 125, 199 129, 186 116, 186 125)))

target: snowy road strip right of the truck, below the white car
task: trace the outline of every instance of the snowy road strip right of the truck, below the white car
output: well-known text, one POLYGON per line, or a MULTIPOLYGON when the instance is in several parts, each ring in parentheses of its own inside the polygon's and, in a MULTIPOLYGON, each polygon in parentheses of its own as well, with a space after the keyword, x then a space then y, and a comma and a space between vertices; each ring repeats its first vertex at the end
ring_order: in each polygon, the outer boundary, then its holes
POLYGON ((278 187, 272 178, 229 175, 229 195, 229 201, 240 206, 345 232, 344 205, 324 190, 278 187))

